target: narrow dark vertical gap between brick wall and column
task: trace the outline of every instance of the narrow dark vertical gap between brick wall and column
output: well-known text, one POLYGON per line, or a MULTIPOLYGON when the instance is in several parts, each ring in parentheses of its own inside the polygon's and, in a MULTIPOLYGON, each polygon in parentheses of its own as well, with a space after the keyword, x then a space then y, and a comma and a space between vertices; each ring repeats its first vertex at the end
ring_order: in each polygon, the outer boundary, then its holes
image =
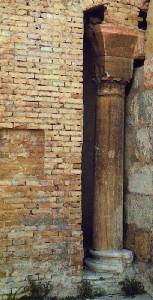
POLYGON ((101 23, 104 19, 104 6, 90 9, 84 14, 83 51, 83 103, 84 128, 82 151, 82 230, 85 256, 92 245, 92 218, 94 196, 94 145, 96 120, 96 84, 94 80, 94 53, 88 38, 90 24, 101 23))

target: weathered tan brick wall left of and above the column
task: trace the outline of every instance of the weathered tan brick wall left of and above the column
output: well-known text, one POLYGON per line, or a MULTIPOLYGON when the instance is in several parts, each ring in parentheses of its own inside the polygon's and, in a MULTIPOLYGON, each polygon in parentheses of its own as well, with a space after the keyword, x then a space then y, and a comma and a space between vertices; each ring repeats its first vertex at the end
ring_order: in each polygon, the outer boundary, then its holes
POLYGON ((107 21, 137 26, 145 3, 0 1, 0 297, 26 286, 28 275, 52 281, 62 296, 75 293, 83 261, 83 11, 103 4, 107 21))

